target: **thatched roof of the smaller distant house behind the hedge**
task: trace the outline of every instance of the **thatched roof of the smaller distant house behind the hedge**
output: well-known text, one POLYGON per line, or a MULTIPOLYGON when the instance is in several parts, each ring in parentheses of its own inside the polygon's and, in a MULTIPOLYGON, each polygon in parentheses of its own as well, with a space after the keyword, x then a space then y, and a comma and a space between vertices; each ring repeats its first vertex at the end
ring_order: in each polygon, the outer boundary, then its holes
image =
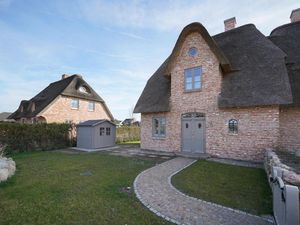
POLYGON ((35 117, 59 95, 100 102, 110 118, 113 119, 113 116, 103 99, 82 79, 80 75, 76 74, 51 83, 30 100, 22 100, 19 108, 9 116, 9 119, 35 117), (80 92, 78 89, 81 86, 84 86, 88 93, 80 92), (35 110, 32 110, 33 105, 35 110))

